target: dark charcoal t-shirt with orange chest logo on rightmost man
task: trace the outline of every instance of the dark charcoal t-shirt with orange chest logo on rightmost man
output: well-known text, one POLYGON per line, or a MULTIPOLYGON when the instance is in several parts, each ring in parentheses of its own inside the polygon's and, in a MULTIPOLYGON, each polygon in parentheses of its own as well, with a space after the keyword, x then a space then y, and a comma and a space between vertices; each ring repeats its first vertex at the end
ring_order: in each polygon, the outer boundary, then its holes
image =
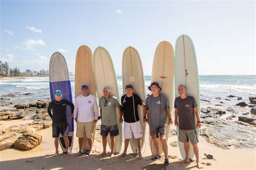
POLYGON ((181 130, 194 130, 194 108, 197 107, 197 102, 192 96, 187 96, 185 99, 177 97, 174 101, 174 108, 178 109, 179 128, 181 130))

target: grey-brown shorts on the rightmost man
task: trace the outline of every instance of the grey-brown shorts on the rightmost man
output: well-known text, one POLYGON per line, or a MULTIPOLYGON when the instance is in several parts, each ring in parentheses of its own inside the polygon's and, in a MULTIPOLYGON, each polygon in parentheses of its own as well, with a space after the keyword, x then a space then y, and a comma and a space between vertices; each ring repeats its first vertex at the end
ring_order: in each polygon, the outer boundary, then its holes
POLYGON ((196 130, 181 130, 179 128, 179 141, 185 143, 189 141, 188 139, 190 140, 191 144, 196 144, 199 142, 196 130))

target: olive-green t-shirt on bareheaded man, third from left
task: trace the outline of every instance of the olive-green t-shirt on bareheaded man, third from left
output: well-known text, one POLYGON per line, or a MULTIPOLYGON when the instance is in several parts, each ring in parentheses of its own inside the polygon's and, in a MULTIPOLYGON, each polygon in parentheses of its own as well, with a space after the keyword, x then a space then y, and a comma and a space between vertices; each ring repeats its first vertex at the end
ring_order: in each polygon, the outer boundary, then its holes
POLYGON ((117 125, 116 107, 120 106, 115 96, 110 96, 109 100, 105 100, 102 96, 99 98, 99 106, 102 108, 102 125, 117 125))

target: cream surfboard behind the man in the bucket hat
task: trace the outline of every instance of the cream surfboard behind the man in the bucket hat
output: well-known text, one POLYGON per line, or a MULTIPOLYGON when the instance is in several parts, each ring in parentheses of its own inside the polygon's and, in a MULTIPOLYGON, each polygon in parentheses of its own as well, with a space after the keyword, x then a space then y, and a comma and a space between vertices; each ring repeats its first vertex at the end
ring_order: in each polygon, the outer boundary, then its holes
MULTIPOLYGON (((151 82, 153 81, 157 81, 159 86, 162 88, 160 93, 167 97, 172 114, 172 108, 174 105, 174 52, 173 47, 169 42, 160 42, 157 46, 156 52, 154 53, 151 82)), ((166 115, 166 142, 169 139, 170 133, 170 125, 168 124, 168 121, 169 119, 166 115)), ((157 141, 160 145, 160 154, 162 154, 163 149, 160 138, 158 138, 157 141)), ((150 148, 152 155, 156 155, 156 148, 154 147, 151 136, 150 148)))

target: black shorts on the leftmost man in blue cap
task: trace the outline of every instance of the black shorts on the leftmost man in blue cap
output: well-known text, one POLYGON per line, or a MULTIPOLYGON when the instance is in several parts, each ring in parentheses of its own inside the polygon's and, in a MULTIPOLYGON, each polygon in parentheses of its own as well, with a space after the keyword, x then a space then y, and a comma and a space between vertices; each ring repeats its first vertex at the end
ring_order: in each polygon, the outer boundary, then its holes
POLYGON ((58 138, 59 133, 62 134, 63 137, 69 135, 69 127, 66 122, 52 123, 52 138, 58 138))

